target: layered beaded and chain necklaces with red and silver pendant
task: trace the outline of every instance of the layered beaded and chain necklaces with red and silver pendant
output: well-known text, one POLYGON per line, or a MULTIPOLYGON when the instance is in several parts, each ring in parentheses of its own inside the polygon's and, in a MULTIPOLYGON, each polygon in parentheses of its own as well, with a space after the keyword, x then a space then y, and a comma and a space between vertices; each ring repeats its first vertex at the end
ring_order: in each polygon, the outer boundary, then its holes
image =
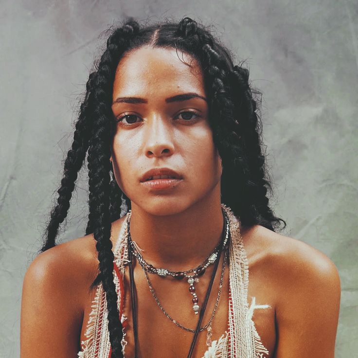
POLYGON ((224 273, 225 273, 225 266, 226 266, 226 260, 228 257, 228 250, 229 250, 229 245, 228 245, 228 241, 229 241, 229 237, 230 237, 230 227, 229 227, 229 218, 226 214, 226 211, 224 209, 222 209, 222 213, 224 215, 224 228, 223 228, 223 233, 222 233, 222 239, 220 240, 220 242, 216 245, 216 247, 214 248, 214 250, 212 250, 209 255, 200 263, 200 265, 196 266, 193 269, 189 269, 186 271, 172 271, 169 269, 164 269, 164 268, 155 268, 153 265, 149 264, 148 262, 146 262, 142 256, 142 254, 140 253, 141 249, 138 247, 138 245, 136 244, 135 241, 132 240, 131 236, 130 236, 130 230, 129 230, 129 217, 127 219, 127 239, 128 239, 128 256, 130 255, 130 257, 133 255, 138 263, 140 264, 140 266, 142 267, 144 274, 145 274, 145 278, 147 281, 147 284, 149 286, 150 292, 152 293, 155 301, 157 302, 159 308, 161 309, 161 311, 165 314, 165 316, 172 321, 175 325, 177 325, 179 328, 184 329, 188 332, 192 332, 194 333, 194 339, 192 342, 192 348, 191 351, 194 349, 194 344, 196 341, 196 337, 198 332, 203 331, 204 329, 207 330, 207 340, 206 340, 206 344, 208 346, 211 345, 212 340, 212 327, 211 327, 211 323, 214 319, 215 313, 216 313, 216 309, 217 306, 219 304, 219 300, 220 300, 220 295, 221 295, 221 291, 222 291, 222 284, 223 284, 223 278, 224 278, 224 273), (221 269, 221 275, 220 275, 220 282, 219 282, 219 287, 218 287, 218 293, 217 293, 217 297, 216 297, 216 301, 215 301, 215 306, 212 312, 212 315, 209 319, 209 322, 207 324, 205 324, 203 327, 200 327, 201 324, 201 320, 206 308, 206 304, 210 295, 210 291, 211 291, 211 286, 213 284, 214 278, 215 278, 215 272, 217 269, 217 265, 218 265, 218 261, 220 260, 221 257, 221 253, 224 251, 224 258, 223 258, 223 263, 222 263, 222 269, 221 269), (203 303, 203 307, 200 307, 199 305, 199 300, 197 297, 197 293, 196 293, 196 288, 195 288, 195 284, 199 282, 199 277, 202 276, 206 269, 210 266, 210 265, 214 265, 214 271, 212 274, 212 278, 211 278, 211 282, 209 284, 208 287, 208 291, 207 291, 207 295, 205 297, 204 303, 203 303), (200 317, 199 317, 199 322, 197 325, 197 329, 191 329, 188 328, 182 324, 180 324, 179 322, 177 322, 176 320, 174 320, 168 313, 167 311, 164 309, 164 307, 162 306, 161 302, 159 301, 155 290, 153 288, 153 285, 149 279, 149 274, 156 274, 162 278, 167 278, 167 277, 173 277, 176 280, 183 280, 184 278, 186 279, 186 281, 189 284, 189 292, 192 295, 192 303, 193 303, 193 311, 195 315, 198 315, 198 313, 200 312, 200 317), (201 311, 200 311, 201 309, 201 311))

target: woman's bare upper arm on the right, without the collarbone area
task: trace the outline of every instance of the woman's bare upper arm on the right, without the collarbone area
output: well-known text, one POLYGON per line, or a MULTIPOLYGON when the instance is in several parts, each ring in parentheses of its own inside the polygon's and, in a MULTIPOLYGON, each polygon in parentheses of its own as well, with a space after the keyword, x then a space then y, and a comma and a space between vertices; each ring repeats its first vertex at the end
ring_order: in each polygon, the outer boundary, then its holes
POLYGON ((340 310, 340 277, 322 252, 295 240, 277 267, 281 275, 276 307, 275 358, 334 358, 340 310))

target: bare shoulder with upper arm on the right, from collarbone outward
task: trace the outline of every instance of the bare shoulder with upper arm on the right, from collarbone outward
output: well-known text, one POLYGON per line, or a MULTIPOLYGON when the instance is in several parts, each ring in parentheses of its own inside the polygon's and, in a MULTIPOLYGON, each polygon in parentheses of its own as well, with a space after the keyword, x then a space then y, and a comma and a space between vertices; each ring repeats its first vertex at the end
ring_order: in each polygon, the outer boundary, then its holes
POLYGON ((248 229, 243 240, 275 294, 275 358, 333 358, 340 310, 336 265, 303 241, 262 226, 248 229))

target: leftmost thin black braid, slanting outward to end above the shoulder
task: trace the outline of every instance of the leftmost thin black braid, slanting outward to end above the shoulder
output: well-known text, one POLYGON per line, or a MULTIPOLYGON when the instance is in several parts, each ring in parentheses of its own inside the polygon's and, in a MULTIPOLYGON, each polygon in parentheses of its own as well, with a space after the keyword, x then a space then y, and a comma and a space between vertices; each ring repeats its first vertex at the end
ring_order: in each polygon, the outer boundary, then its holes
POLYGON ((55 238, 58 233, 60 224, 65 220, 70 208, 72 192, 75 181, 77 180, 78 171, 82 168, 89 146, 91 132, 91 97, 92 88, 96 72, 90 74, 86 85, 86 96, 81 104, 78 121, 75 125, 73 142, 71 149, 67 153, 64 163, 64 174, 61 180, 61 186, 58 189, 57 204, 50 214, 50 221, 45 232, 45 242, 41 252, 55 246, 55 238))

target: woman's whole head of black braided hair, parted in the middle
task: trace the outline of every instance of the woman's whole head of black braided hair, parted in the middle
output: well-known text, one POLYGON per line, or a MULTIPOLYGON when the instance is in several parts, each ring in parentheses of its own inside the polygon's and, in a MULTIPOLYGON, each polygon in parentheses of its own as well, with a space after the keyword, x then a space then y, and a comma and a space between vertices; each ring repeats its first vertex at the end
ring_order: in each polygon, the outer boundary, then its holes
POLYGON ((286 226, 269 207, 267 193, 271 186, 262 150, 261 120, 257 101, 253 98, 258 92, 249 85, 249 71, 234 66, 229 51, 191 18, 146 27, 130 19, 115 28, 87 82, 72 147, 64 163, 57 204, 51 212, 41 249, 46 251, 55 246, 59 225, 67 216, 77 174, 88 152, 90 193, 86 234, 93 233, 99 260, 99 274, 92 288, 102 283, 106 291, 112 357, 123 357, 123 333, 113 282, 111 222, 120 217, 123 201, 128 210, 131 207, 130 199, 125 197, 113 177, 109 161, 115 129, 112 91, 120 59, 143 45, 177 49, 192 55, 201 66, 209 99, 209 123, 224 168, 221 201, 233 210, 244 226, 258 224, 272 231, 279 227, 280 221, 286 226))

